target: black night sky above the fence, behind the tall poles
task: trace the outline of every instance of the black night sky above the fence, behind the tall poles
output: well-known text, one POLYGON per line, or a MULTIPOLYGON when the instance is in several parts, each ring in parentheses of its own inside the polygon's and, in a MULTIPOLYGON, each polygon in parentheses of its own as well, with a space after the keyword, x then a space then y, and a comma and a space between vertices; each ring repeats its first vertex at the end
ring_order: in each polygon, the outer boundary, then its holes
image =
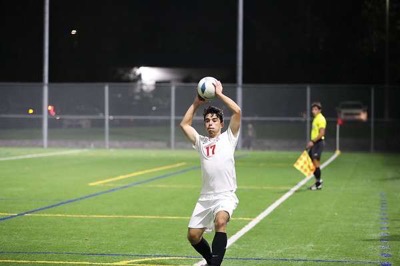
MULTIPOLYGON (((384 83, 385 2, 245 0, 243 82, 384 83)), ((399 2, 391 1, 393 84, 399 2)), ((43 1, 0 0, 0 10, 0 81, 42 81, 43 1)), ((235 73, 236 31, 234 0, 50 0, 49 81, 113 81, 112 69, 140 65, 235 73)))

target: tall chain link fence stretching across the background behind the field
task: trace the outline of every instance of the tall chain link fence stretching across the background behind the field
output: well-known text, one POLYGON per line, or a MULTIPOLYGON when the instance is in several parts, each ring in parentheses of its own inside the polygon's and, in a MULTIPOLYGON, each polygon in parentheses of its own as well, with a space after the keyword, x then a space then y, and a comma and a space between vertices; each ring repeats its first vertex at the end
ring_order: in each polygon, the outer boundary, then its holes
MULTIPOLYGON (((196 85, 49 84, 48 107, 43 108, 41 83, 0 83, 0 145, 189 149, 179 123, 195 97, 196 85)), ((223 85, 224 93, 236 100, 237 86, 223 85)), ((303 149, 312 121, 310 104, 320 101, 328 121, 327 150, 337 148, 339 137, 341 150, 400 151, 398 87, 244 84, 240 89, 240 149, 303 149), (349 101, 363 105, 366 117, 345 119, 338 130, 338 107, 349 101)), ((224 109, 227 126, 229 110, 219 100, 209 104, 224 109)), ((194 126, 205 133, 202 110, 194 126)))

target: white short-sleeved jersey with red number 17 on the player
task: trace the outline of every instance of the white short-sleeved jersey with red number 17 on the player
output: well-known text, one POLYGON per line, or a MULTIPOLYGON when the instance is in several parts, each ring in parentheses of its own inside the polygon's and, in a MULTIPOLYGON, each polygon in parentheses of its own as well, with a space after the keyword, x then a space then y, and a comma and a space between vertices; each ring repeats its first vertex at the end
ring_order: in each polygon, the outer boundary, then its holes
POLYGON ((200 154, 201 195, 236 191, 234 153, 238 136, 235 137, 229 127, 216 138, 197 134, 194 148, 200 154))

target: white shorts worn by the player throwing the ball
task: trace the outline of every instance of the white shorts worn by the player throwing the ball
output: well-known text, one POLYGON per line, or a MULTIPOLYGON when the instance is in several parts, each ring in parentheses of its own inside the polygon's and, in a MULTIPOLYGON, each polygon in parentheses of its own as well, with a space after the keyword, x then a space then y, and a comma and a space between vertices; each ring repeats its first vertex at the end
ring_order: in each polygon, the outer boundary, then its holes
POLYGON ((225 192, 218 195, 202 195, 194 207, 189 228, 206 228, 214 230, 215 215, 219 211, 226 211, 232 217, 233 211, 239 204, 234 192, 225 192))

